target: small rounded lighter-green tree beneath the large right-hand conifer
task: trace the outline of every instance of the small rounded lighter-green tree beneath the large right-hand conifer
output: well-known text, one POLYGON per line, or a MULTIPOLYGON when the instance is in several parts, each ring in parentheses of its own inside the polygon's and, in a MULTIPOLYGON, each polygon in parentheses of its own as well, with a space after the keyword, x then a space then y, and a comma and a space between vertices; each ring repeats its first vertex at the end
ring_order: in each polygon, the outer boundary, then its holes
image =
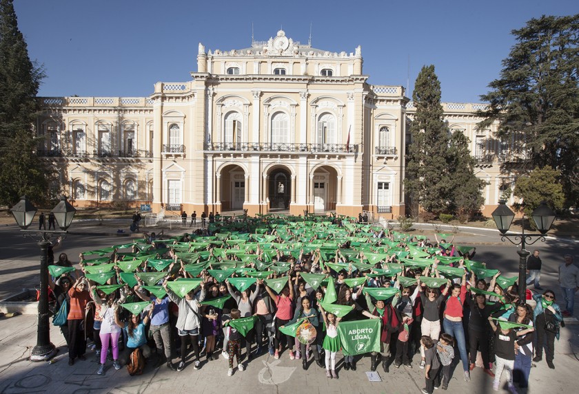
POLYGON ((522 204, 515 204, 515 208, 524 210, 528 217, 531 217, 531 212, 541 201, 545 201, 553 210, 563 208, 565 195, 559 182, 560 175, 560 171, 545 166, 536 167, 529 175, 518 177, 514 195, 522 199, 522 204))

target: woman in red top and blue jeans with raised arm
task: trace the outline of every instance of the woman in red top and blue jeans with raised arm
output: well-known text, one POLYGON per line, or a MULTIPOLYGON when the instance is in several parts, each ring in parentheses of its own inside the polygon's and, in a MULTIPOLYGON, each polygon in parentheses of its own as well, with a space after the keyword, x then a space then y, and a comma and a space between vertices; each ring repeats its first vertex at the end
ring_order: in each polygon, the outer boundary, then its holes
POLYGON ((470 382, 469 358, 467 357, 465 329, 463 328, 463 305, 467 296, 466 271, 463 274, 463 280, 460 285, 455 283, 451 288, 451 294, 446 300, 443 328, 445 333, 454 336, 458 351, 460 351, 460 360, 463 362, 463 369, 465 370, 465 382, 470 382))

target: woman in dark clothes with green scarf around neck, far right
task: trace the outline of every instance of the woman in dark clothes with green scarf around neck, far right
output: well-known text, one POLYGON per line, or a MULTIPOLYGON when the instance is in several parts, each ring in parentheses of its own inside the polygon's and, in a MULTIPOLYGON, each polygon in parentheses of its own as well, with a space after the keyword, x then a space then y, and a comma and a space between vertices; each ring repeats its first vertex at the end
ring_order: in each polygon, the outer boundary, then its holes
POLYGON ((542 296, 534 294, 534 300, 537 306, 533 311, 533 322, 537 336, 537 346, 535 347, 534 362, 542 360, 542 349, 547 340, 545 347, 545 356, 547 365, 550 369, 555 369, 553 358, 555 356, 555 338, 559 339, 559 323, 563 321, 561 309, 555 302, 555 292, 545 290, 542 296))

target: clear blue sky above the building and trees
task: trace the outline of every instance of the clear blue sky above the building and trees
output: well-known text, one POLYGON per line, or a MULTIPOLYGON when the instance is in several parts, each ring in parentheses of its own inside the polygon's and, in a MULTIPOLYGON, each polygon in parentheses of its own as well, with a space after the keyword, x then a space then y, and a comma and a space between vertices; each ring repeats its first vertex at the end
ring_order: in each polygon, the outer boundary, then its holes
MULTIPOLYGON (((283 27, 331 52, 362 45, 374 85, 414 86, 434 64, 443 101, 480 102, 514 45, 513 29, 576 0, 197 1, 14 0, 30 58, 45 67, 39 96, 149 96, 156 82, 190 80, 199 42, 249 47, 283 27)), ((407 94, 408 96, 410 93, 407 94)))

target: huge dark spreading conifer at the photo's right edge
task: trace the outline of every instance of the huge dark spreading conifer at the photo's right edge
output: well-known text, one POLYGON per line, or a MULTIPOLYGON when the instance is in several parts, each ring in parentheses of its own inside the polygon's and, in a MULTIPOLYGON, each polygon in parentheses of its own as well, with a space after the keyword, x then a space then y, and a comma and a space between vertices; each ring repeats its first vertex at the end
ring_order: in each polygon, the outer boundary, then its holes
POLYGON ((579 197, 579 14, 531 19, 513 30, 516 45, 492 81, 481 127, 522 133, 531 164, 560 171, 567 204, 579 197))

